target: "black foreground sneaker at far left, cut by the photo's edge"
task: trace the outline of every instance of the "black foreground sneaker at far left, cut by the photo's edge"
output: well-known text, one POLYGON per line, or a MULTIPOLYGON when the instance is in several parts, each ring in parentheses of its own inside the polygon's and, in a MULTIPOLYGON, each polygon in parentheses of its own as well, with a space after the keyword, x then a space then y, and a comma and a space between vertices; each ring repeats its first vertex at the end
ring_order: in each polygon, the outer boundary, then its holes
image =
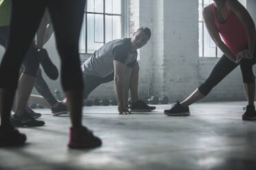
POLYGON ((14 127, 0 126, 0 147, 14 147, 23 145, 26 141, 25 134, 21 134, 14 127))

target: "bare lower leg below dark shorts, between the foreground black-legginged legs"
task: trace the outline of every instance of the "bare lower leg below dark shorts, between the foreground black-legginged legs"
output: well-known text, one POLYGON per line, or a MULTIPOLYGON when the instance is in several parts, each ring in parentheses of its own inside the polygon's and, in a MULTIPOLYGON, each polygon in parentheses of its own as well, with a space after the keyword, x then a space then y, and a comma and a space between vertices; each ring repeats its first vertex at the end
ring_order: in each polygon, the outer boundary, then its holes
POLYGON ((24 114, 25 106, 34 86, 35 77, 22 73, 17 88, 17 106, 15 114, 20 117, 24 114))

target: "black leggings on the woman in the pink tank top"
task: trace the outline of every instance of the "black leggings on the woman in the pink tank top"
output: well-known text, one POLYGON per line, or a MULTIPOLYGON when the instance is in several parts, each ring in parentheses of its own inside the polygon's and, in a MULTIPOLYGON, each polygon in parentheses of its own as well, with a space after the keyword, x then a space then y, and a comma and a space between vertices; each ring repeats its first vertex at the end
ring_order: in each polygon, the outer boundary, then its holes
MULTIPOLYGON (((253 74, 253 65, 256 63, 256 55, 254 53, 252 60, 241 60, 240 62, 240 68, 242 71, 242 77, 244 83, 253 83, 255 82, 255 76, 253 74)), ((211 89, 216 86, 226 75, 231 73, 238 64, 235 64, 234 62, 231 62, 225 55, 223 55, 220 60, 215 64, 213 67, 213 71, 211 71, 211 74, 206 79, 206 81, 201 84, 201 86, 198 88, 198 90, 203 95, 208 95, 211 91, 211 89)))

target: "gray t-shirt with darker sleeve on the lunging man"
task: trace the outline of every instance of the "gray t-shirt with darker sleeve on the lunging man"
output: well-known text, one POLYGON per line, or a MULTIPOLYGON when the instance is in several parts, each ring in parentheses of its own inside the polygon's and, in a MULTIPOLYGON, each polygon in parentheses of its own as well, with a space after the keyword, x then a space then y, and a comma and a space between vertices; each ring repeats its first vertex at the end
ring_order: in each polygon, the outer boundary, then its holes
POLYGON ((83 74, 107 77, 114 73, 114 60, 132 68, 137 56, 137 50, 131 51, 131 38, 112 40, 96 50, 82 64, 81 69, 83 74))

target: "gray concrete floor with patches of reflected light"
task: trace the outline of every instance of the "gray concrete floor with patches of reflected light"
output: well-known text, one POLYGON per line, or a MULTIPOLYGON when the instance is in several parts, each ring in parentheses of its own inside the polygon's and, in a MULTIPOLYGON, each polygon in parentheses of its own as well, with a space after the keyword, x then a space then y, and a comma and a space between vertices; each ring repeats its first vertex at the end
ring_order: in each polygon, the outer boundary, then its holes
POLYGON ((256 121, 242 121, 246 102, 201 103, 189 117, 154 112, 118 115, 116 106, 84 108, 98 149, 67 148, 69 117, 38 109, 45 126, 20 128, 24 147, 0 149, 0 169, 256 169, 256 121))

